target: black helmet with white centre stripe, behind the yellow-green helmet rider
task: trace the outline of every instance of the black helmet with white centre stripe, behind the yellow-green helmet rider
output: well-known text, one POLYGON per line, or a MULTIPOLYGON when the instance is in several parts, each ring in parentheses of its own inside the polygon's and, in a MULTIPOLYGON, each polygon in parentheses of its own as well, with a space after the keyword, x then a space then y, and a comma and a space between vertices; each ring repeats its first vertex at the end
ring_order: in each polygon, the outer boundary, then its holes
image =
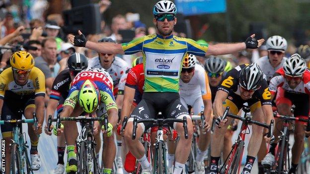
POLYGON ((72 54, 68 58, 68 67, 71 71, 79 72, 88 66, 87 58, 79 53, 72 54))

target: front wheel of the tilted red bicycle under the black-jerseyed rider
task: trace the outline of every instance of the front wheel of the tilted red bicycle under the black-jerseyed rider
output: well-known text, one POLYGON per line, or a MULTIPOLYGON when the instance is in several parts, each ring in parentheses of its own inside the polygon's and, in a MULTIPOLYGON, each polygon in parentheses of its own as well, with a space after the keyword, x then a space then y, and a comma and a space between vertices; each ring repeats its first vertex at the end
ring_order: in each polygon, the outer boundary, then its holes
POLYGON ((237 174, 240 168, 241 155, 243 153, 244 141, 240 141, 238 144, 235 144, 237 147, 233 150, 231 154, 231 165, 228 166, 225 174, 237 174))

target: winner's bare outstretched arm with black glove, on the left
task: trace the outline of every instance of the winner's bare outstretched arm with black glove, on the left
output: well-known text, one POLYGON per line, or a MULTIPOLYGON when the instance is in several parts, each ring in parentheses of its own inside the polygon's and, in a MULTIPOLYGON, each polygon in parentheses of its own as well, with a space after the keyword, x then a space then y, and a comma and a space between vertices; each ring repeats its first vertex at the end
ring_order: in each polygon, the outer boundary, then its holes
POLYGON ((85 36, 78 30, 78 35, 68 35, 69 41, 77 47, 85 47, 94 50, 98 53, 106 54, 124 54, 121 44, 115 44, 110 42, 91 42, 87 41, 85 36))

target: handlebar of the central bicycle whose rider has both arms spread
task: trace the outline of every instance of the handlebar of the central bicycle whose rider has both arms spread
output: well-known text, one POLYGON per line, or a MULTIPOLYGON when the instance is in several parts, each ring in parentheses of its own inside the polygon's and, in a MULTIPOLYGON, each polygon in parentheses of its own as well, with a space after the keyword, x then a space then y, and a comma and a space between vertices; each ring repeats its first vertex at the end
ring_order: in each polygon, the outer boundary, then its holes
POLYGON ((158 126, 162 126, 165 123, 169 123, 169 122, 182 122, 183 123, 183 128, 184 128, 184 136, 185 139, 188 138, 188 131, 187 131, 187 119, 186 116, 183 116, 183 119, 177 119, 177 118, 166 118, 166 119, 141 119, 138 120, 137 117, 134 117, 134 121, 133 121, 133 134, 132 134, 132 139, 136 139, 136 131, 137 131, 137 127, 138 127, 138 123, 144 123, 144 122, 151 122, 153 123, 153 125, 158 125, 158 126))

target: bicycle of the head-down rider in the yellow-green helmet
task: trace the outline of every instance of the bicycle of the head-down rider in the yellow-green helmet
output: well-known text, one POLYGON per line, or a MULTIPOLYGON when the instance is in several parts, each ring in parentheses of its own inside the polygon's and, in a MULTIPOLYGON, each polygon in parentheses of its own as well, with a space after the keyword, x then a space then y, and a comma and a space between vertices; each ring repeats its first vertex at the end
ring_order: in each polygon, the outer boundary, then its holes
POLYGON ((52 116, 48 118, 48 131, 52 122, 56 121, 56 127, 60 128, 61 121, 79 121, 83 124, 83 128, 79 133, 77 140, 77 156, 78 156, 78 174, 101 174, 98 161, 96 159, 95 147, 96 143, 93 136, 93 121, 103 121, 105 128, 108 127, 107 115, 103 117, 60 117, 58 114, 56 118, 52 116))

